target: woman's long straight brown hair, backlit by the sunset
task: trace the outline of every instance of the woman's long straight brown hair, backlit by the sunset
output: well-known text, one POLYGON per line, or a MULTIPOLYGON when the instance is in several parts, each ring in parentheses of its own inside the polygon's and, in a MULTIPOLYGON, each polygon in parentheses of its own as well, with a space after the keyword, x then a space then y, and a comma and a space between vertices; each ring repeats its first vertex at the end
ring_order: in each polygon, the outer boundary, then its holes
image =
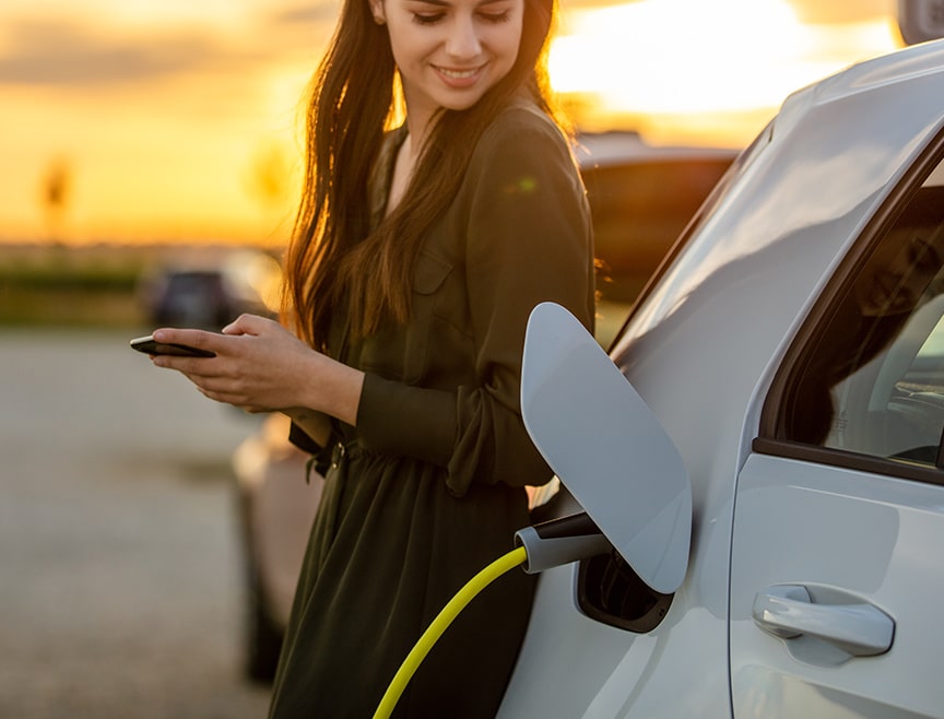
POLYGON ((397 68, 387 28, 374 22, 367 0, 345 0, 310 85, 303 196, 285 258, 284 308, 312 346, 326 349, 339 308, 359 337, 384 321, 404 321, 421 244, 458 191, 482 132, 522 92, 554 116, 547 40, 555 5, 524 0, 512 69, 471 108, 439 113, 402 200, 371 231, 368 184, 398 110, 397 68))

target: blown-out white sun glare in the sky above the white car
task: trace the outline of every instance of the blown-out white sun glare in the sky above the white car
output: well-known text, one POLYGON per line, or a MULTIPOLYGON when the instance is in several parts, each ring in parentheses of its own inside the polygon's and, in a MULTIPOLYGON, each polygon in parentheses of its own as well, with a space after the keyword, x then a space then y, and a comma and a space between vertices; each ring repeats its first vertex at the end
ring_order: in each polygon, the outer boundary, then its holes
POLYGON ((783 0, 647 0, 575 10, 552 45, 551 79, 558 93, 593 95, 616 114, 772 108, 857 51, 861 58, 894 47, 886 25, 838 32, 847 52, 822 58, 830 48, 824 31, 802 24, 783 0))

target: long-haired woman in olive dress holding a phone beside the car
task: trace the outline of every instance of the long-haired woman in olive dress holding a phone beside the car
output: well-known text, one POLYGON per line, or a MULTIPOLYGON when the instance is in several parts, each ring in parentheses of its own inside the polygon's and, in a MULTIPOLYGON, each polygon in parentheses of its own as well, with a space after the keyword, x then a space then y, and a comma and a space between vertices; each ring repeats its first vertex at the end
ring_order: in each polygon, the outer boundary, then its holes
MULTIPOLYGON (((369 717, 422 632, 530 523, 551 472, 519 409, 540 302, 593 319, 583 187, 546 97, 552 0, 347 0, 312 85, 286 257, 298 338, 243 316, 156 357, 208 397, 282 411, 326 474, 272 717, 369 717), (398 85, 405 122, 392 125, 398 85), (391 108, 393 108, 391 110, 391 108)), ((532 578, 449 627, 398 706, 491 717, 532 578)))

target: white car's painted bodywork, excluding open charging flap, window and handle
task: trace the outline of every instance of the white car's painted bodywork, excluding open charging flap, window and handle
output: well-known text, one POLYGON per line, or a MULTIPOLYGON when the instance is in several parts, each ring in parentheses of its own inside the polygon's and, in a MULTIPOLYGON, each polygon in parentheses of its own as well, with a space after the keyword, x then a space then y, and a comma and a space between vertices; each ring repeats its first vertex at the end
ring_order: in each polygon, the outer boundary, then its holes
POLYGON ((942 42, 857 66, 784 103, 611 352, 692 481, 686 579, 665 620, 633 634, 579 613, 573 568, 545 573, 499 717, 944 716, 944 683, 921 674, 933 671, 931 652, 944 645, 944 628, 931 621, 944 573, 916 539, 944 538, 942 487, 812 464, 799 468, 809 484, 798 484, 795 462, 781 475, 788 460, 748 459, 760 404, 796 328, 942 120, 942 42), (801 556, 778 553, 777 533, 806 531, 795 515, 824 486, 835 494, 835 516, 810 526, 801 556), (843 526, 843 512, 861 518, 865 504, 876 535, 857 549, 848 540, 863 530, 843 526), (834 542, 841 552, 822 551, 834 542), (876 552, 885 566, 874 566, 876 552), (752 605, 770 585, 828 584, 839 564, 839 589, 885 608, 898 628, 887 655, 824 672, 757 627, 752 605), (902 591, 921 576, 933 577, 925 591, 902 591), (884 582, 893 577, 897 591, 884 582), (906 626, 901 616, 928 621, 906 626))

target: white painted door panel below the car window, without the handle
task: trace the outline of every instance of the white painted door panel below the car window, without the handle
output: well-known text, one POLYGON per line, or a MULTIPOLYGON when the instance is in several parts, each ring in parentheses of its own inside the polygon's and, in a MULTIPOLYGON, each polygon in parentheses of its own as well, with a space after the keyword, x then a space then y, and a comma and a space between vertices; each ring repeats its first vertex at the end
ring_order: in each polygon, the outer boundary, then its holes
POLYGON ((739 479, 732 555, 734 716, 944 714, 937 677, 944 627, 936 621, 942 507, 942 486, 779 457, 748 459, 739 479), (848 592, 883 609, 895 620, 893 650, 849 658, 822 641, 787 644, 758 630, 751 617, 755 593, 784 581, 848 592))

